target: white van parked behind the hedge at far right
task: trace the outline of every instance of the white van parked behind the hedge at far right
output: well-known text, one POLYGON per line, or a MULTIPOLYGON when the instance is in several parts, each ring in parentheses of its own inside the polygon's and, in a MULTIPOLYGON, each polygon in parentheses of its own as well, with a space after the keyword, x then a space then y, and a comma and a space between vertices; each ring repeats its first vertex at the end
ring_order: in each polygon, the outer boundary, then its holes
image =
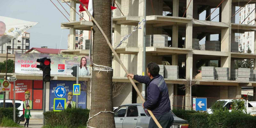
MULTIPOLYGON (((223 108, 228 111, 231 111, 232 100, 234 100, 234 99, 219 99, 216 102, 223 102, 223 108)), ((235 99, 235 100, 238 100, 238 99, 235 99)), ((248 102, 244 99, 241 99, 241 100, 243 100, 245 102, 244 106, 246 108, 247 113, 250 113, 251 115, 255 115, 256 114, 256 102, 255 101, 248 102)), ((212 114, 211 108, 207 109, 207 113, 212 114)))

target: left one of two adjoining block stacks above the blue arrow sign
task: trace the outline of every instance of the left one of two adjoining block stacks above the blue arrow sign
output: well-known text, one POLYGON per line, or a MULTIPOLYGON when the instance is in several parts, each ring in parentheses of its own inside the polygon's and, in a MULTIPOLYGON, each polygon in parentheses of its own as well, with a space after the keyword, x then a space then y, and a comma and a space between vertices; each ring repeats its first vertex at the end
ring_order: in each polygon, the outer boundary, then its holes
POLYGON ((215 80, 215 67, 202 67, 202 79, 215 80))

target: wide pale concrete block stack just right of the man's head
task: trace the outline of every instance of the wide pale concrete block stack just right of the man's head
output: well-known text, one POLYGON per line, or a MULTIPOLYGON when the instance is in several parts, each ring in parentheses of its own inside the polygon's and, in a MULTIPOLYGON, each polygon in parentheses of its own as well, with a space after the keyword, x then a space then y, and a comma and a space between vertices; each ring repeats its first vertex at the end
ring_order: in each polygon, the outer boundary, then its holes
POLYGON ((164 78, 179 79, 179 66, 165 65, 164 78))

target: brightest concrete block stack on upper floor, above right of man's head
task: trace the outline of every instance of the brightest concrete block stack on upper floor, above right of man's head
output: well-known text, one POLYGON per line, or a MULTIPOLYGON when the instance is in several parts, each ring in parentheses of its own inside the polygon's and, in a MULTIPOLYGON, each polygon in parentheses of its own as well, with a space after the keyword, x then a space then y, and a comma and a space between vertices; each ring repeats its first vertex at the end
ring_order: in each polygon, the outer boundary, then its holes
POLYGON ((168 35, 153 35, 154 47, 168 47, 168 35))

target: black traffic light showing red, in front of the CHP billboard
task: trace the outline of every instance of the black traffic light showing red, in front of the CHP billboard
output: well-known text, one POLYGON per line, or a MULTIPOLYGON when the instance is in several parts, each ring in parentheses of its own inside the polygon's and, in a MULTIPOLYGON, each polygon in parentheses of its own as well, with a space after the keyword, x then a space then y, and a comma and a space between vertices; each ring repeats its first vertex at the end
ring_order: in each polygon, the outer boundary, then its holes
POLYGON ((37 59, 36 62, 40 65, 36 65, 37 68, 43 71, 43 82, 50 82, 51 80, 51 59, 41 58, 37 59))

